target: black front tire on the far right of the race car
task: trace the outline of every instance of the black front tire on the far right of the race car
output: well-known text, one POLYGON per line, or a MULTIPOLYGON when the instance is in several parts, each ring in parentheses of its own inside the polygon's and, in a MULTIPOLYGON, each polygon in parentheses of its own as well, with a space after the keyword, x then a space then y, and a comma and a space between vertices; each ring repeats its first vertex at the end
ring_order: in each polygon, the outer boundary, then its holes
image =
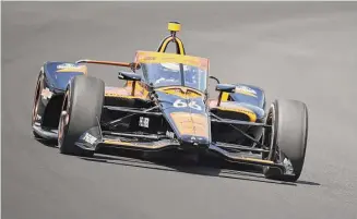
POLYGON ((276 168, 264 167, 265 178, 296 182, 301 174, 308 139, 308 109, 297 100, 275 100, 269 111, 266 123, 273 125, 269 138, 270 154, 265 157, 282 163, 287 158, 294 174, 284 174, 276 168))

